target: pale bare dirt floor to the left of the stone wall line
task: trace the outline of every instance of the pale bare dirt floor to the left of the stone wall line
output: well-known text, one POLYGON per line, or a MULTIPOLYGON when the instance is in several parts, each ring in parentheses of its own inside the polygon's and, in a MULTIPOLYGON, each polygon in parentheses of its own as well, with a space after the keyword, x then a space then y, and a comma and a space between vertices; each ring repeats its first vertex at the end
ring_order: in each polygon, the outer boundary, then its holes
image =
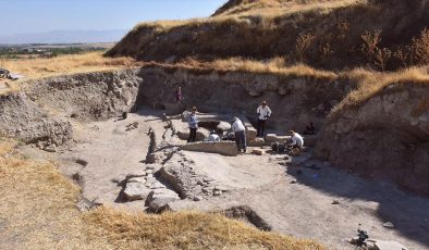
POLYGON ((150 127, 162 130, 163 125, 158 116, 139 114, 128 114, 126 120, 112 118, 82 125, 75 133, 78 143, 60 157, 61 171, 69 176, 76 173, 82 176, 85 198, 119 205, 115 201, 122 186, 118 183, 127 174, 143 168, 150 142, 147 133, 150 127), (133 122, 138 122, 138 128, 126 130, 126 125, 133 122))

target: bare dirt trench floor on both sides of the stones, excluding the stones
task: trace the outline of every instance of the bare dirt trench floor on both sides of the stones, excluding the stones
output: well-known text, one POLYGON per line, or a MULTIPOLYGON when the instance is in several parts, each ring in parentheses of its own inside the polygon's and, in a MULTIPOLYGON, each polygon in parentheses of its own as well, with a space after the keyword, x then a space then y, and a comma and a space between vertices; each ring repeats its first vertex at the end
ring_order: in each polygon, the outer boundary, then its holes
MULTIPOLYGON (((117 203, 122 189, 112 180, 144 166, 149 146, 149 127, 159 135, 166 130, 160 113, 143 111, 125 121, 110 120, 75 125, 78 141, 72 151, 60 154, 61 170, 82 176, 83 193, 89 200, 142 210, 142 201, 117 203), (131 122, 138 129, 125 132, 131 122), (78 160, 78 163, 76 163, 78 160)), ((320 170, 282 164, 274 155, 221 157, 184 152, 195 163, 195 172, 230 187, 220 197, 171 204, 173 209, 212 211, 249 205, 275 232, 314 238, 338 249, 353 249, 345 242, 356 235, 358 224, 371 238, 396 240, 409 249, 429 249, 429 199, 399 191, 387 183, 365 180, 353 174, 315 162, 320 170), (296 179, 295 184, 291 182, 296 179), (340 204, 332 204, 339 200, 340 204), (382 226, 392 222, 393 229, 382 226)))

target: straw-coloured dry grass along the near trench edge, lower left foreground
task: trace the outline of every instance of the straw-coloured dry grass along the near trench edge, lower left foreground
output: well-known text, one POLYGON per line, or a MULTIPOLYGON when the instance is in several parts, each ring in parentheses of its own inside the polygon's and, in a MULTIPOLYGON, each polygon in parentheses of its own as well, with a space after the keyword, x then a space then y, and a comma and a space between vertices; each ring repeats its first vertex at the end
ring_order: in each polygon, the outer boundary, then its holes
POLYGON ((54 164, 25 159, 0 140, 0 249, 311 249, 219 214, 130 214, 76 209, 79 188, 54 164))

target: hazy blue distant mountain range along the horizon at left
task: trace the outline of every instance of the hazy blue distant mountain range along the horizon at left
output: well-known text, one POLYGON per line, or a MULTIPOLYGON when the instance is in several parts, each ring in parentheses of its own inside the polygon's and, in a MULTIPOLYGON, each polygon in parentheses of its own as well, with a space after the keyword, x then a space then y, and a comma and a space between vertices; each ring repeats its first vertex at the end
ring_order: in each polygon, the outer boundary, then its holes
POLYGON ((124 29, 53 30, 47 33, 0 35, 1 43, 96 43, 114 42, 126 34, 124 29))

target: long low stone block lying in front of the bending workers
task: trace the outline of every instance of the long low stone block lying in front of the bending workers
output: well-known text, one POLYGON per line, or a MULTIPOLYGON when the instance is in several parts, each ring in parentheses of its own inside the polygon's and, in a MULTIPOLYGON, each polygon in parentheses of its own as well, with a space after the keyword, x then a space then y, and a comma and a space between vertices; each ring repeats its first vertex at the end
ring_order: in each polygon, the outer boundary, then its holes
POLYGON ((220 142, 194 142, 187 143, 181 147, 181 150, 207 152, 207 153, 219 153, 228 157, 236 157, 238 154, 237 148, 234 141, 220 141, 220 142))

